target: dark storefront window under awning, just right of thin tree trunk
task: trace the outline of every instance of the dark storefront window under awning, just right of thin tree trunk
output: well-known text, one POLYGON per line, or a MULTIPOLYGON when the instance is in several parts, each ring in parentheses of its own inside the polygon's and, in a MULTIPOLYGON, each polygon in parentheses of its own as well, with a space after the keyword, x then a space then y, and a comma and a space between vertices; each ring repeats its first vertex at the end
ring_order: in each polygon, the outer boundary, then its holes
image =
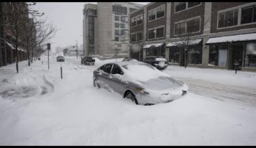
POLYGON ((201 64, 202 63, 202 48, 201 46, 189 47, 189 64, 201 64))

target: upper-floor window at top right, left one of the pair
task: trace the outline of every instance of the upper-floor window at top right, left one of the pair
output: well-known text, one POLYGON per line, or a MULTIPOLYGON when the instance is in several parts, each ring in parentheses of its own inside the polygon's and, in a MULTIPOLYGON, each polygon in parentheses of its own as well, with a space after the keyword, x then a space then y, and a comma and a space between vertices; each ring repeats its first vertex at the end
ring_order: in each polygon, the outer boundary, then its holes
POLYGON ((218 28, 236 26, 238 20, 238 9, 219 14, 218 28))

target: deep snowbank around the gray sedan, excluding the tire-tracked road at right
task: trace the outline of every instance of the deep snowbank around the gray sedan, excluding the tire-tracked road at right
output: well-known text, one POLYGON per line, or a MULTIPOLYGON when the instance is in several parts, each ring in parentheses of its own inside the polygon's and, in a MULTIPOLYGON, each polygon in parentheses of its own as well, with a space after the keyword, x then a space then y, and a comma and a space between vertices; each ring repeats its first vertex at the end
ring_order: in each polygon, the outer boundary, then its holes
MULTIPOLYGON (((49 71, 40 61, 31 67, 34 77, 45 75, 54 85, 51 93, 0 96, 0 145, 256 145, 256 108, 191 93, 167 104, 137 106, 93 87, 95 67, 66 61, 61 79, 55 60, 49 71)), ((28 67, 21 69, 19 79, 31 77, 28 67)), ((15 75, 1 78, 14 81, 15 75)))

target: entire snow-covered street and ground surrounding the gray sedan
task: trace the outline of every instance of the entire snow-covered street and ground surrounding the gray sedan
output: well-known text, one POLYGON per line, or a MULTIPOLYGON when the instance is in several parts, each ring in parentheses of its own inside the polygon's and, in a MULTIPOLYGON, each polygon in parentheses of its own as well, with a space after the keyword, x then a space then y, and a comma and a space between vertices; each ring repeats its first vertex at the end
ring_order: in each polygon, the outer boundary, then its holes
MULTIPOLYGON (((93 87, 94 66, 47 57, 0 68, 0 145, 256 145, 256 73, 170 65, 189 85, 166 104, 139 106, 93 87)), ((121 59, 117 59, 120 61, 121 59)))

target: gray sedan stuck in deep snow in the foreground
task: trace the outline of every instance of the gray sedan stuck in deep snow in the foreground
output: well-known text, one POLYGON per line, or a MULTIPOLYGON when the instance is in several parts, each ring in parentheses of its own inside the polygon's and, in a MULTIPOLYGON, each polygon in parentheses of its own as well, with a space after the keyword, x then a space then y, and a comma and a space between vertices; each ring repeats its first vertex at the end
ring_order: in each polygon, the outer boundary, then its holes
POLYGON ((94 71, 93 82, 94 87, 115 91, 141 105, 171 102, 182 98, 188 91, 188 86, 182 81, 137 61, 102 65, 94 71))

